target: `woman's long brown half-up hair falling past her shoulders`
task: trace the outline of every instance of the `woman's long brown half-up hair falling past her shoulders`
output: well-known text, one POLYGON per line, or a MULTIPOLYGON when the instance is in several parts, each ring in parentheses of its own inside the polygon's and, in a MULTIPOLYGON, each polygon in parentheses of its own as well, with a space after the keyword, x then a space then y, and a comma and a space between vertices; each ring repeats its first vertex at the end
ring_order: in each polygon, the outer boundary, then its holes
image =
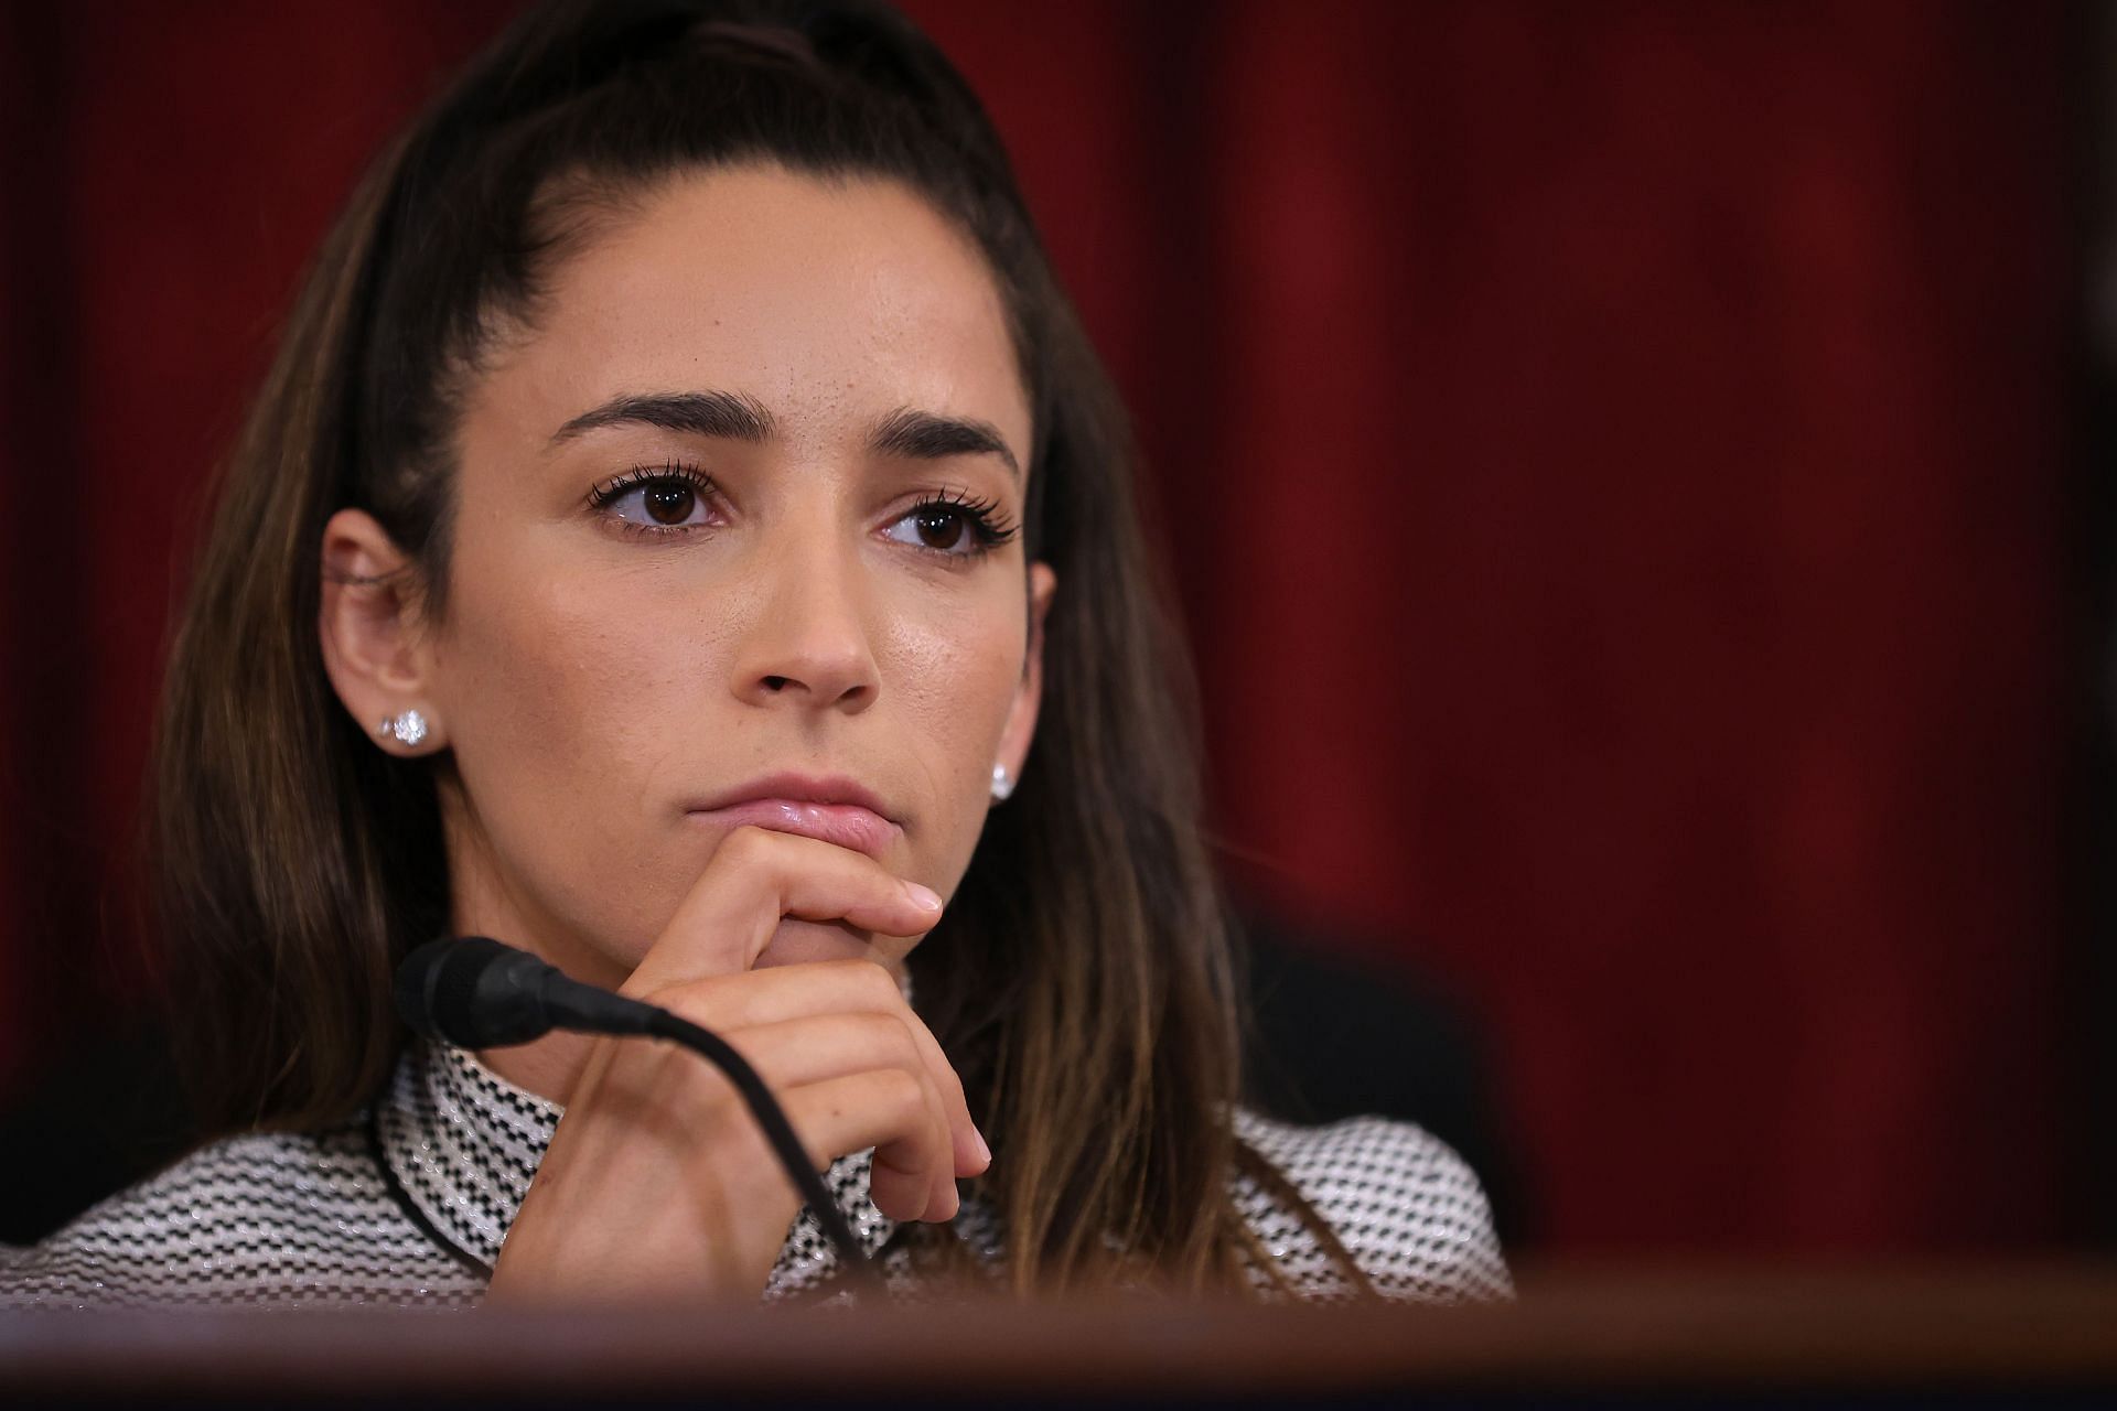
POLYGON ((402 1041, 390 971, 449 914, 445 757, 373 749, 322 671, 324 520, 375 514, 445 613, 455 396, 489 332, 533 324, 627 195, 743 161, 919 190, 984 252, 1029 389, 1027 542, 1061 582, 1042 723, 917 967, 999 1153, 978 1193, 1010 1280, 1241 1286, 1230 948, 1126 417, 978 99, 876 4, 542 6, 356 190, 224 468, 169 666, 161 922, 201 1108, 315 1128, 370 1102, 402 1041))

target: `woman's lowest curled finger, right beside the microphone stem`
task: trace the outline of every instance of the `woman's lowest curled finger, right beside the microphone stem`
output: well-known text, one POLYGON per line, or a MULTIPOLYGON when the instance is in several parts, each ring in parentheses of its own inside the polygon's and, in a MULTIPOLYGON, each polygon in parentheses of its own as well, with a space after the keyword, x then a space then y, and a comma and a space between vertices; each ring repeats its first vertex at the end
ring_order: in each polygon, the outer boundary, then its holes
POLYGON ((957 1214, 948 1130, 934 1121, 925 1085, 902 1068, 853 1073, 781 1096, 788 1121, 817 1168, 874 1147, 868 1197, 893 1221, 957 1214))

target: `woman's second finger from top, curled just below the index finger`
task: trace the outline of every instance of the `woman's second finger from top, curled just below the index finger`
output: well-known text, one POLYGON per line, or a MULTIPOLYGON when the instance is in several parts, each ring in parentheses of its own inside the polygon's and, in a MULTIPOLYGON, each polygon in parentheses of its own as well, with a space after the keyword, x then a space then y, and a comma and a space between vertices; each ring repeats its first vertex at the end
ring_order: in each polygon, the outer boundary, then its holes
MULTIPOLYGON (((720 1032, 730 1043, 745 1030, 775 1028, 807 1018, 885 1015, 910 1039, 919 1062, 940 1094, 955 1147, 955 1174, 976 1176, 991 1166, 991 1149, 984 1142, 984 1134, 972 1121, 970 1104, 963 1098, 963 1079, 942 1053, 934 1030, 904 1003, 895 979, 870 960, 821 960, 815 965, 754 971, 732 979, 703 979, 661 990, 650 998, 694 1024, 720 1032)), ((790 1075, 781 1081, 815 1081, 819 1077, 821 1073, 809 1077, 790 1075)))

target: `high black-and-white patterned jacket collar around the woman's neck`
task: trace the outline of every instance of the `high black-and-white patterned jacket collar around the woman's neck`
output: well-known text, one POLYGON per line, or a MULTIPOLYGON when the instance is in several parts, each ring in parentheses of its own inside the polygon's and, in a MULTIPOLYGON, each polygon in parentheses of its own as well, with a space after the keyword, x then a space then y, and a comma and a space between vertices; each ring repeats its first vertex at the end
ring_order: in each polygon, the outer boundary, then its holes
MULTIPOLYGON (((523 1092, 462 1049, 413 1043, 375 1111, 375 1132, 379 1157, 417 1218, 455 1254, 491 1269, 563 1115, 557 1102, 523 1092)), ((824 1176, 870 1257, 895 1233, 895 1223, 868 1199, 872 1159, 872 1151, 843 1157, 824 1176)), ((836 1250, 804 1208, 764 1297, 813 1288, 836 1263, 836 1250)))

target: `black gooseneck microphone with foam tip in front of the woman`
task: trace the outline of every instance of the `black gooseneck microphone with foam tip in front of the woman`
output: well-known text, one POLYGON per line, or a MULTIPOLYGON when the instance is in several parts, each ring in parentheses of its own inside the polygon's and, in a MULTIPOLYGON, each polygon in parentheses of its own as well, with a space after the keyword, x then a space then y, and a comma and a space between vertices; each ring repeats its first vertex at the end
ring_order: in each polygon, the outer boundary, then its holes
POLYGON ((794 1125, 758 1070, 720 1034, 656 1005, 625 998, 485 935, 459 935, 417 948, 396 973, 396 1009, 413 1032, 457 1049, 504 1049, 555 1028, 580 1034, 641 1034, 680 1043, 720 1068, 758 1119, 788 1180, 815 1212, 847 1271, 881 1293, 868 1252, 853 1240, 838 1202, 809 1163, 794 1125))

